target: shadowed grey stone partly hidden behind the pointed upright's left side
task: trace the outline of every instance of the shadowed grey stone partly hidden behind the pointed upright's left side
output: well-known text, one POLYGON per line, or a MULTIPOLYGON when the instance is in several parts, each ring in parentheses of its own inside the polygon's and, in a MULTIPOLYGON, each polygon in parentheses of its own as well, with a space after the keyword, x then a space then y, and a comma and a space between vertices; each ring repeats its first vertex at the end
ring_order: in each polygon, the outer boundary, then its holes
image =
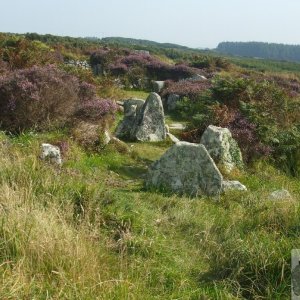
POLYGON ((136 117, 145 101, 142 99, 128 99, 123 101, 124 119, 116 129, 116 136, 124 139, 134 139, 131 131, 134 127, 136 117))

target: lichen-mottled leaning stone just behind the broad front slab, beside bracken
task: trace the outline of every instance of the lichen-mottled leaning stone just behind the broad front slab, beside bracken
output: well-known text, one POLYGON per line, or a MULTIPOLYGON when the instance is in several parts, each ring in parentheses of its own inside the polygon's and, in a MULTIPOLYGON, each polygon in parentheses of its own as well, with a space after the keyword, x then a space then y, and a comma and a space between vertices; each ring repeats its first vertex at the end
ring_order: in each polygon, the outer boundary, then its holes
POLYGON ((243 167, 241 150, 227 128, 210 125, 203 133, 203 144, 213 160, 226 172, 243 167))

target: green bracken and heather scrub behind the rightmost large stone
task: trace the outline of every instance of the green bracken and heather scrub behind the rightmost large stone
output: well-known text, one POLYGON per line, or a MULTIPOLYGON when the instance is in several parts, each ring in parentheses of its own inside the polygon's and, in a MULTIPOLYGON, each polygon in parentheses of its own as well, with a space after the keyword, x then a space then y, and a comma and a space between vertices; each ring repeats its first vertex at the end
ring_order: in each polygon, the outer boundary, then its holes
POLYGON ((190 121, 183 139, 199 142, 209 124, 227 127, 245 161, 263 156, 292 175, 300 173, 299 98, 290 97, 274 81, 249 76, 217 77, 205 93, 189 96, 179 103, 190 121))

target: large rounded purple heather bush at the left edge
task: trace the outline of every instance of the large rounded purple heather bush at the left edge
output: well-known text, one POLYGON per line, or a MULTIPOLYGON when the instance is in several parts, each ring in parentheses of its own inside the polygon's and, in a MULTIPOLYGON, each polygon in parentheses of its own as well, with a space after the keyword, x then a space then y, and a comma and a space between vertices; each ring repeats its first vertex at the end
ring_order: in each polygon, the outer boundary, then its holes
POLYGON ((17 70, 0 77, 1 127, 8 131, 63 126, 75 115, 93 111, 91 117, 102 118, 114 110, 109 100, 102 103, 97 98, 92 85, 54 66, 17 70))

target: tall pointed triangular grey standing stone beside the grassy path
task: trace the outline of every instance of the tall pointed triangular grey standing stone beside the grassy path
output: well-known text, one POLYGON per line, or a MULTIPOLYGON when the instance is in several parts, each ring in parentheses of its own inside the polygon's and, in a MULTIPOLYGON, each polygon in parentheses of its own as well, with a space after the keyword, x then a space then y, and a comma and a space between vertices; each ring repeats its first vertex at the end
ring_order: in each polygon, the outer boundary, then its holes
POLYGON ((165 115, 161 98, 150 93, 141 110, 138 111, 131 137, 138 141, 163 141, 166 139, 165 115))

